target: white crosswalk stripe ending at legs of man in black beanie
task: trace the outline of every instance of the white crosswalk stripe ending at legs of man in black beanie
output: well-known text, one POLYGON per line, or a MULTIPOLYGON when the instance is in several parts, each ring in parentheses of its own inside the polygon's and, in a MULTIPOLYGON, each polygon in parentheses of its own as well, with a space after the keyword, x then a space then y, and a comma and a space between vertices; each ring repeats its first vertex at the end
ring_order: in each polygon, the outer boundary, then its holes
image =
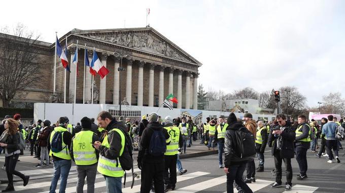
POLYGON ((223 175, 223 176, 220 176, 217 178, 213 178, 210 180, 202 181, 200 183, 196 183, 193 185, 182 187, 182 188, 179 188, 177 190, 169 191, 169 192, 171 192, 171 193, 194 193, 194 192, 201 191, 201 190, 204 190, 204 189, 207 189, 207 188, 210 188, 210 187, 222 184, 222 183, 226 183, 226 175, 223 175))

